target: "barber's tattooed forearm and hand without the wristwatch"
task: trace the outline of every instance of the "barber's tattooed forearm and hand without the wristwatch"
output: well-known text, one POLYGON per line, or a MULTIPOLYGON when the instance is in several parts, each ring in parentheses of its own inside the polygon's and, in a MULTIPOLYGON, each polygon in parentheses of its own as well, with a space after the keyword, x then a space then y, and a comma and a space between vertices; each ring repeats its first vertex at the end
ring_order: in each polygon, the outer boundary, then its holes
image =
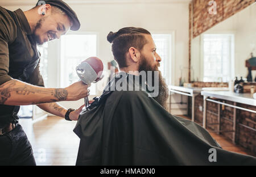
POLYGON ((0 86, 0 104, 19 106, 78 100, 88 95, 87 87, 80 81, 66 88, 44 88, 12 79, 0 86))

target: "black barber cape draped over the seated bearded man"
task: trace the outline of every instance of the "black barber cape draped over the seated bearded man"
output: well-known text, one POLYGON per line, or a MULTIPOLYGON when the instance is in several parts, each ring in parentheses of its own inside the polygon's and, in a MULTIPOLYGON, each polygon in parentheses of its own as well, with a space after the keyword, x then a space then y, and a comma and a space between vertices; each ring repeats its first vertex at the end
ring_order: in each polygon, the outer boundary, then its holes
POLYGON ((76 165, 256 165, 254 157, 221 149, 207 130, 171 115, 147 91, 110 91, 128 75, 113 78, 80 113, 76 165))

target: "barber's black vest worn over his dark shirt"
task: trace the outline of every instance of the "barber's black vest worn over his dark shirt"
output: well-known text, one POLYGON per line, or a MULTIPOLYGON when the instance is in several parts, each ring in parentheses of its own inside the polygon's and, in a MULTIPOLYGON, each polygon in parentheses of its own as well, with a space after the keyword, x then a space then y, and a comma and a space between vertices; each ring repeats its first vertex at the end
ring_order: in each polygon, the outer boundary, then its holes
MULTIPOLYGON (((16 18, 14 12, 7 10, 13 18, 16 27, 17 34, 16 39, 13 43, 9 43, 9 73, 10 77, 18 79, 23 82, 28 82, 30 75, 35 70, 39 62, 39 53, 36 49, 36 43, 32 39, 32 35, 27 35, 30 40, 31 47, 34 51, 34 56, 31 58, 29 51, 27 50, 27 44, 20 29, 18 19, 16 18), (26 60, 25 60, 26 59, 26 60)), ((19 117, 17 113, 19 112, 20 106, 9 106, 0 104, 0 128, 5 127, 10 123, 18 123, 19 117)))

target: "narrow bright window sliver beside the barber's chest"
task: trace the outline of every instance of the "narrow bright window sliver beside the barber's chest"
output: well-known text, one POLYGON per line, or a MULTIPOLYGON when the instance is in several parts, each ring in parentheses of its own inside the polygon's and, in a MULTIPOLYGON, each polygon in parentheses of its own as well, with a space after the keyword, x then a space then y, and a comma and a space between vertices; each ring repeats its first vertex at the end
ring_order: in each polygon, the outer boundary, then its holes
POLYGON ((48 82, 48 44, 44 43, 37 47, 41 56, 40 56, 40 73, 44 79, 44 86, 47 86, 48 82))

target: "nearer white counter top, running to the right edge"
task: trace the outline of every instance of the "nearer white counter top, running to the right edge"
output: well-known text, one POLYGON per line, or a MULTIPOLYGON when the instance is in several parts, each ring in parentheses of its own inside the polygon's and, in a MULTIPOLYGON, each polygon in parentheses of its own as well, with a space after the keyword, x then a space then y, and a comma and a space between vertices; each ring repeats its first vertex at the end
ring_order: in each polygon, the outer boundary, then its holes
POLYGON ((201 95, 256 106, 256 99, 253 98, 253 94, 249 93, 237 94, 232 91, 202 91, 201 95))

